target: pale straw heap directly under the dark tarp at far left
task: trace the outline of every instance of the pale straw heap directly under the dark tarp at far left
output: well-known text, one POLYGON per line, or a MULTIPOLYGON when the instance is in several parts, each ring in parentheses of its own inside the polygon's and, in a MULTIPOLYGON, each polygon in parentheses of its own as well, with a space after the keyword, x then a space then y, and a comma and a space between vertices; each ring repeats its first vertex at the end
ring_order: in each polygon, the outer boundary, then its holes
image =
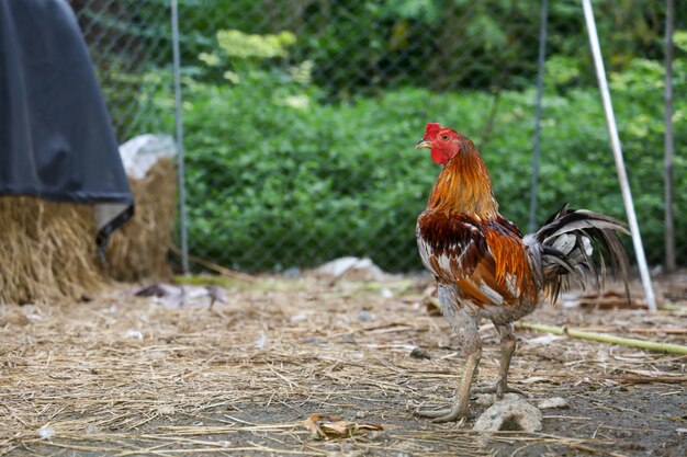
POLYGON ((2 197, 0 238, 0 302, 77 299, 104 283, 92 206, 2 197))

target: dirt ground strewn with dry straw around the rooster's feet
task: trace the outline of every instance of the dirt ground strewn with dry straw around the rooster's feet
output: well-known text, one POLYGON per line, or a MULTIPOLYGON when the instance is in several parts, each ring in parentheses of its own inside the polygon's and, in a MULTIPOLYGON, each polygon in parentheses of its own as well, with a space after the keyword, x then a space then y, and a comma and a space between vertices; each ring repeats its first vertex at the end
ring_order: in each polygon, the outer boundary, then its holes
MULTIPOLYGON (((474 420, 416 418, 446 403, 462 373, 428 284, 261 278, 228 284, 212 308, 207 296, 178 306, 128 285, 90 302, 0 307, 0 455, 687 454, 687 356, 534 331, 517 332, 511 384, 530 404, 568 403, 542 410, 541 432, 487 436, 474 420), (316 438, 312 414, 383 431, 316 438)), ((656 287, 669 306, 653 315, 561 305, 525 321, 686 344, 685 274, 656 287)), ((497 335, 486 323, 481 334, 477 380, 492 382, 497 335)))

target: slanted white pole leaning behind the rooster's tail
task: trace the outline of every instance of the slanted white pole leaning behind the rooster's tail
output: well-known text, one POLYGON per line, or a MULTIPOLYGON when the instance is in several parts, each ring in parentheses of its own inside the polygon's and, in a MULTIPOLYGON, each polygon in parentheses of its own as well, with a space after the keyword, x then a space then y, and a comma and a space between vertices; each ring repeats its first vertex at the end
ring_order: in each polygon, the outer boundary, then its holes
POLYGON ((634 243, 634 254, 637 255, 637 263, 640 269, 640 275, 642 276, 642 285, 644 286, 644 296, 646 297, 646 305, 651 311, 656 310, 656 299, 654 298, 654 290, 651 285, 651 277, 649 275, 649 266, 646 265, 646 256, 644 255, 644 247, 642 245, 642 237, 640 235, 640 227, 637 222, 637 215, 634 214, 634 204, 632 203, 632 193, 630 192, 630 183, 628 182, 628 174, 624 169, 624 161, 622 159, 622 149, 620 148, 620 137, 618 136, 618 126, 616 125, 616 115, 613 114, 613 106, 610 103, 610 92, 608 91, 608 81, 606 80, 606 69, 604 68, 604 59, 601 58, 601 47, 599 45, 599 36, 596 32, 596 22, 594 21, 594 11, 592 10, 590 0, 582 0, 582 7, 585 12, 585 21, 587 22, 587 32, 589 33, 589 46, 592 47, 592 55, 594 56, 594 66, 596 67, 596 77, 599 81, 599 91, 601 92, 601 100, 604 101, 604 112, 606 113, 606 125, 608 126, 608 133, 610 135, 610 144, 613 149, 613 157, 616 158, 616 169, 618 170, 618 180, 620 181, 620 188, 622 190, 622 199, 624 202, 626 213, 628 215, 628 222, 630 224, 630 232, 632 233, 632 242, 634 243))

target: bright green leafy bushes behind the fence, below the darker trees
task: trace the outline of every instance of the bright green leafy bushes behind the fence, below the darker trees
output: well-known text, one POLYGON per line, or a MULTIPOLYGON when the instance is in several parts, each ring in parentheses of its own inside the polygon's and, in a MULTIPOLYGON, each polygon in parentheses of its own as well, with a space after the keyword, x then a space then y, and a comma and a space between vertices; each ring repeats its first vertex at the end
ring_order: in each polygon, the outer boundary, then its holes
MULTIPOLYGON (((540 209, 543 221, 570 202, 623 218, 622 199, 596 89, 551 78, 544 99, 540 209)), ((224 64, 229 65, 228 62, 224 64)), ((682 69, 684 60, 676 61, 682 69)), ((239 66, 240 67, 240 66, 239 66)), ((419 269, 415 218, 438 168, 414 149, 426 122, 471 136, 491 170, 502 212, 522 228, 529 210, 534 91, 499 96, 402 88, 326 104, 307 69, 241 67, 239 81, 187 78, 189 239, 192 252, 245 270, 312 266, 370 255, 391 271, 419 269), (304 73, 305 76, 300 73, 304 73)), ((219 66, 219 71, 225 67, 219 66)), ((662 259, 662 68, 635 60, 612 75, 613 103, 650 261, 662 259)), ((678 73, 676 71, 676 73, 678 73)), ((675 91, 687 90, 680 70, 675 91)), ((687 145, 687 102, 676 99, 675 132, 687 145)), ((678 158, 675 175, 687 163, 678 158)), ((677 207, 687 183, 677 181, 677 207)), ((678 213, 678 227, 687 222, 678 213)), ((678 244, 687 243, 677 230, 678 244)), ((629 244, 628 244, 629 245, 629 244)))

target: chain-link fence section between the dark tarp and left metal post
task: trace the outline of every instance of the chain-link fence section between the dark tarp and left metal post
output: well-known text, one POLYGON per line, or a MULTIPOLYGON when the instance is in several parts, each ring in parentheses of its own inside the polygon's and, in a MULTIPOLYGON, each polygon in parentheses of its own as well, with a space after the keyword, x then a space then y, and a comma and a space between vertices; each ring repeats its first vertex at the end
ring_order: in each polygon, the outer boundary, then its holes
POLYGON ((142 133, 173 134, 173 104, 167 100, 173 90, 169 1, 69 3, 90 47, 120 141, 142 133))

